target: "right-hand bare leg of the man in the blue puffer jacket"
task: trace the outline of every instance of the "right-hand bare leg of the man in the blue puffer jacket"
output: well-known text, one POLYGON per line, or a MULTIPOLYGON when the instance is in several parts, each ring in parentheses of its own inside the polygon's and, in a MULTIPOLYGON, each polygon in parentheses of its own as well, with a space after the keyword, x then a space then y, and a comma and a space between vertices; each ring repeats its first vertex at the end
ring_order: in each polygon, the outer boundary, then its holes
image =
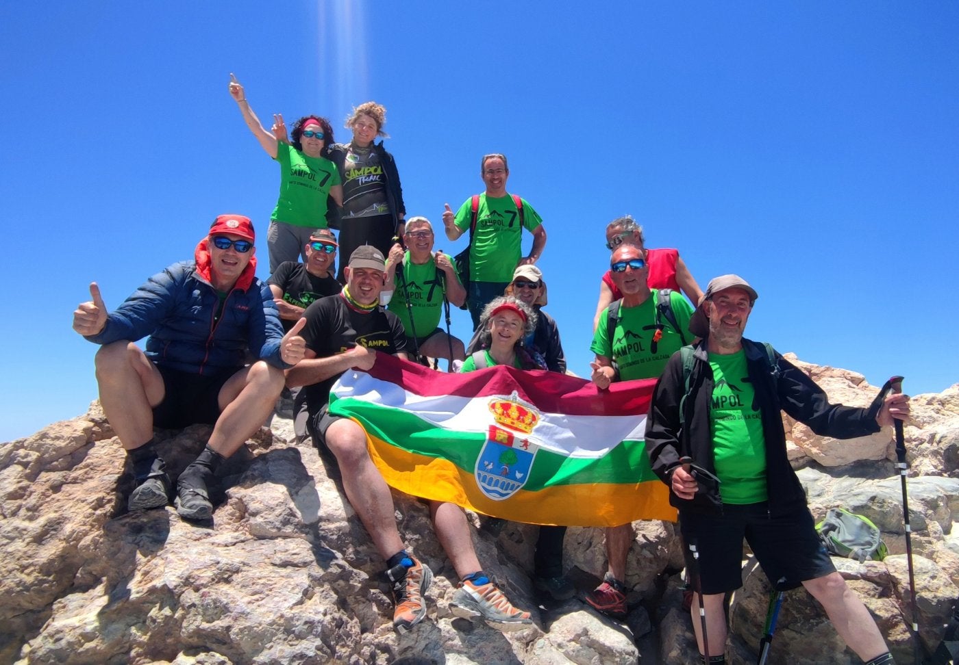
POLYGON ((283 371, 263 360, 229 378, 220 389, 222 413, 210 435, 209 447, 229 457, 266 422, 283 390, 283 371))

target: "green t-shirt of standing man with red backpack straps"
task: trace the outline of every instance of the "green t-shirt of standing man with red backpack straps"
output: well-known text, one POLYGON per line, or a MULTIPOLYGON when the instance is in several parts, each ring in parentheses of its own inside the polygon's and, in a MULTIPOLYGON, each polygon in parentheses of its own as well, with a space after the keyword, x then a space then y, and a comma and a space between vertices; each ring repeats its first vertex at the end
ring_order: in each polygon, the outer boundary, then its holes
MULTIPOLYGON (((487 197, 479 195, 477 227, 473 233, 470 250, 470 279, 473 282, 510 282, 513 270, 523 257, 523 229, 534 231, 543 219, 533 210, 525 198, 523 201, 523 226, 520 213, 511 195, 487 197)), ((469 233, 473 198, 456 211, 456 226, 469 233)))

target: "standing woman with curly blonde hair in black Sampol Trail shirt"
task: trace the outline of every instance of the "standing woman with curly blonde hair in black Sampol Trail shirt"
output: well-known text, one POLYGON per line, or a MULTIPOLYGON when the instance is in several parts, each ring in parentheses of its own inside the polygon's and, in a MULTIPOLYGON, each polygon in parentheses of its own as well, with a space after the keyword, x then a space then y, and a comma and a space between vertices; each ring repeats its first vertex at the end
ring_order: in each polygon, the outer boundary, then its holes
MULTIPOLYGON (((403 238, 407 209, 400 174, 393 155, 383 148, 383 141, 373 143, 378 136, 388 137, 384 125, 383 104, 362 103, 346 119, 346 128, 353 131, 353 140, 330 148, 330 159, 339 168, 343 182, 339 210, 340 256, 350 256, 362 244, 371 244, 386 256, 393 246, 393 238, 403 238)), ((342 264, 337 277, 343 281, 342 264)))

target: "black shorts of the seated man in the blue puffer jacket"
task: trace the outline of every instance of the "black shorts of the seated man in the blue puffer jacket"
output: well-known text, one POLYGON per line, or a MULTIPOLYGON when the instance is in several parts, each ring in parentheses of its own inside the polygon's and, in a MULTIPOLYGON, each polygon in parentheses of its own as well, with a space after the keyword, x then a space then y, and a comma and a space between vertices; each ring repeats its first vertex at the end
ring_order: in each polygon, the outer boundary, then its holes
MULTIPOLYGON (((240 369, 211 376, 180 372, 156 365, 163 377, 163 401, 153 407, 153 426, 181 429, 190 424, 216 424, 220 418, 220 390, 240 369)), ((241 368, 242 369, 242 368, 241 368)))

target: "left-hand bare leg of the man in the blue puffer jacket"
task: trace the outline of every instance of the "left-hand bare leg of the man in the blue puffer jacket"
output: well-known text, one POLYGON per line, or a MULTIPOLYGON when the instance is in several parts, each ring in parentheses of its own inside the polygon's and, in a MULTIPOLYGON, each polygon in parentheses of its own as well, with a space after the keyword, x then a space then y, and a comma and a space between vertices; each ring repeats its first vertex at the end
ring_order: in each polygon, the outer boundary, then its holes
POLYGON ((163 377, 133 342, 107 344, 97 352, 97 383, 106 420, 128 450, 153 438, 153 406, 163 401, 163 377))

